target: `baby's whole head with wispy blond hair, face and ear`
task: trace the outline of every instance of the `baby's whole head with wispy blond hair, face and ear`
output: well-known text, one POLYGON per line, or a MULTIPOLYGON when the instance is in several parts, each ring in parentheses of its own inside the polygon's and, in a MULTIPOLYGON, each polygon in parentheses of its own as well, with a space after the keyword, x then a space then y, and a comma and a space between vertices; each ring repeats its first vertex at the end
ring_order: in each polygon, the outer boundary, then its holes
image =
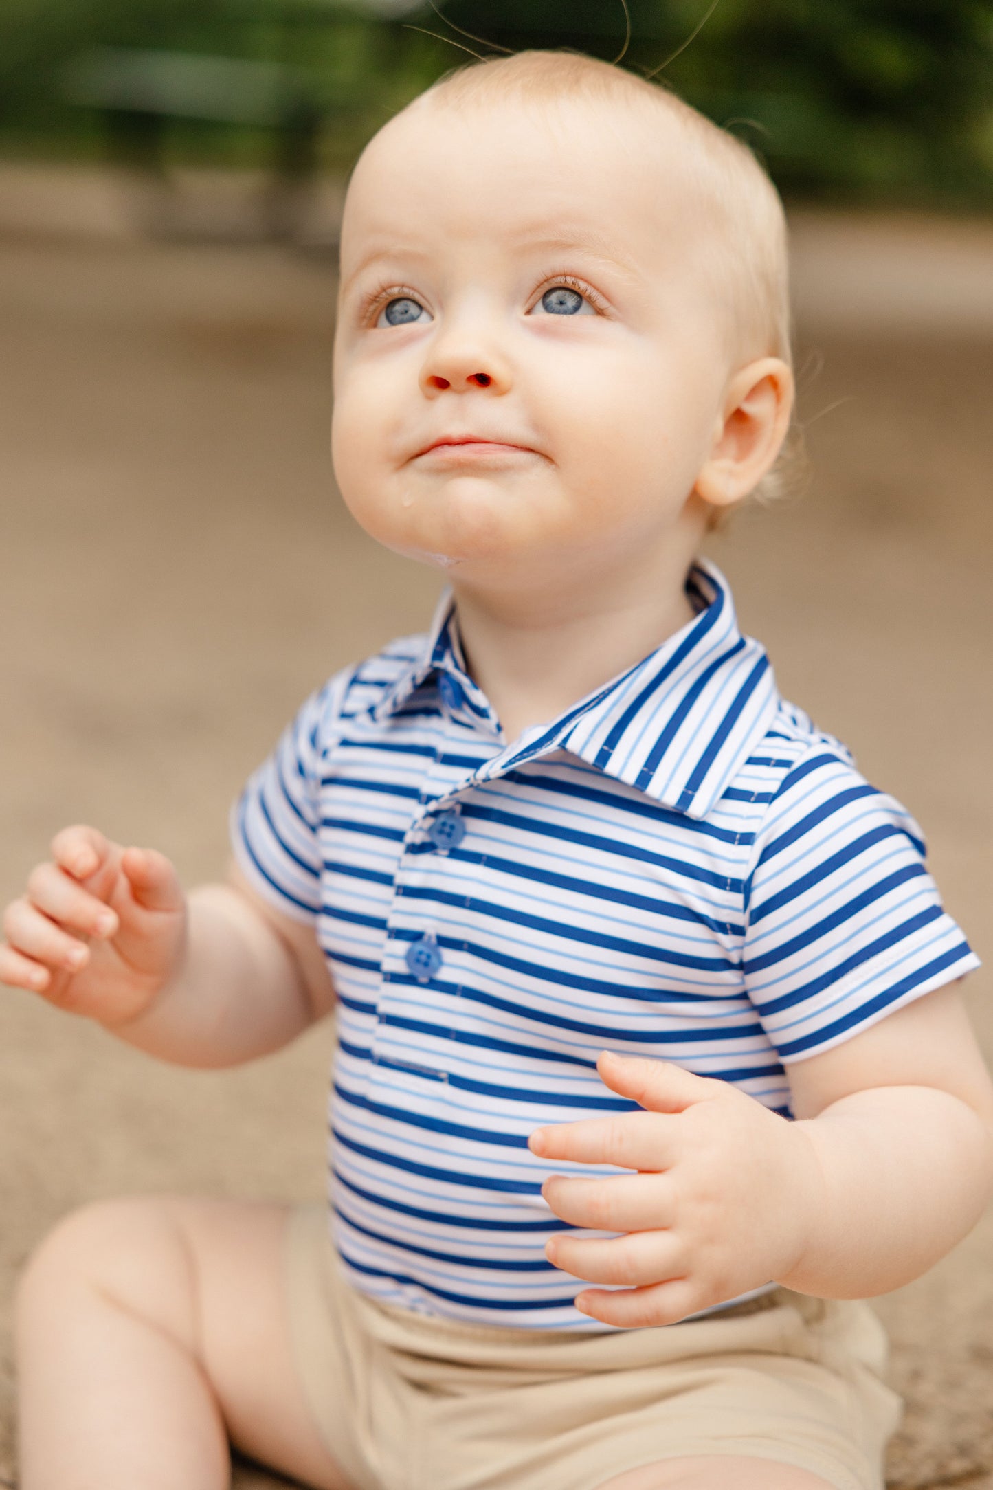
POLYGON ((776 460, 779 197, 630 73, 524 52, 435 85, 359 161, 341 273, 342 495, 459 583, 685 572, 776 460))

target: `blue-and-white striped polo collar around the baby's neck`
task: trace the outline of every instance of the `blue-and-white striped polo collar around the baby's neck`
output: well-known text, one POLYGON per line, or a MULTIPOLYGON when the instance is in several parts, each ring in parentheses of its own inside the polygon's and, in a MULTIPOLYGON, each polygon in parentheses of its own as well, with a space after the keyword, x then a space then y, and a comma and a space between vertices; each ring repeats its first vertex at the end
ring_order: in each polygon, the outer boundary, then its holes
MULTIPOLYGON (((665 808, 706 817, 770 727, 779 693, 765 648, 738 630, 721 571, 698 560, 688 590, 701 606, 692 621, 551 724, 514 741, 479 769, 478 779, 567 751, 665 808)), ((447 592, 420 660, 380 699, 377 720, 399 709, 432 675, 457 684, 462 702, 454 712, 464 723, 493 718, 466 673, 454 620, 447 592)))

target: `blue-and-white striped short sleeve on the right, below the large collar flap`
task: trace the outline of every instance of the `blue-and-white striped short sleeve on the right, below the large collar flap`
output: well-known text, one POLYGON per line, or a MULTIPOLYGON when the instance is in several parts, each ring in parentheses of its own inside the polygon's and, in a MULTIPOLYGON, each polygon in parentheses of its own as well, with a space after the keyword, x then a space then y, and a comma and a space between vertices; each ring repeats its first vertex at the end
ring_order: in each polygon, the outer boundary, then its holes
POLYGON ((840 1044, 974 967, 914 820, 811 748, 770 805, 746 882, 744 980, 780 1059, 840 1044))

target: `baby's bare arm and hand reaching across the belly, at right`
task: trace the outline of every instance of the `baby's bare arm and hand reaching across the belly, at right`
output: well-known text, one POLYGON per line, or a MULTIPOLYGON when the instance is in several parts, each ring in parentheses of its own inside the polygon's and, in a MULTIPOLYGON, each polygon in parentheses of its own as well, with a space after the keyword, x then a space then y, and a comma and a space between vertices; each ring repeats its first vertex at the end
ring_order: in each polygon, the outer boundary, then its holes
POLYGON ((978 1220, 993 1183, 993 1088, 956 988, 789 1067, 796 1122, 668 1062, 604 1056, 645 1112, 537 1129, 534 1153, 636 1170, 552 1177, 551 1208, 612 1241, 549 1259, 624 1292, 578 1305, 658 1325, 776 1280, 865 1298, 917 1277, 978 1220))

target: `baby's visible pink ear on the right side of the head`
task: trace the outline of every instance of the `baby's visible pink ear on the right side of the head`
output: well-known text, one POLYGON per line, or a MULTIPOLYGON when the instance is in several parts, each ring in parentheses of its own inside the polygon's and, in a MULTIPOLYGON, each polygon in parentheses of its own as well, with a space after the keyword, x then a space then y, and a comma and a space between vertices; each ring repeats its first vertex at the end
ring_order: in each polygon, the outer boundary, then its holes
POLYGON ((740 368, 728 383, 695 493, 712 507, 734 507, 755 490, 780 451, 792 408, 794 374, 782 358, 740 368))

